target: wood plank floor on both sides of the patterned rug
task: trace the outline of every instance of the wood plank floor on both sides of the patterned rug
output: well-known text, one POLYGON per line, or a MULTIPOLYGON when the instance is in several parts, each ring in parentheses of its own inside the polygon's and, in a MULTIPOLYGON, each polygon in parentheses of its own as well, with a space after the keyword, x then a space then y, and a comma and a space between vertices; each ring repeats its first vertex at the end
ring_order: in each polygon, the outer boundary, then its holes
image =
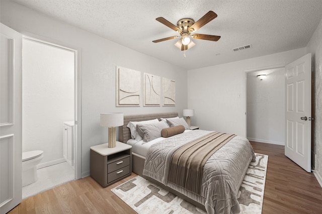
MULTIPOLYGON (((322 213, 322 188, 308 173, 284 155, 284 146, 251 142, 254 151, 267 154, 263 214, 322 213)), ((136 213, 110 189, 136 174, 103 188, 90 176, 73 180, 24 199, 9 213, 136 213)))

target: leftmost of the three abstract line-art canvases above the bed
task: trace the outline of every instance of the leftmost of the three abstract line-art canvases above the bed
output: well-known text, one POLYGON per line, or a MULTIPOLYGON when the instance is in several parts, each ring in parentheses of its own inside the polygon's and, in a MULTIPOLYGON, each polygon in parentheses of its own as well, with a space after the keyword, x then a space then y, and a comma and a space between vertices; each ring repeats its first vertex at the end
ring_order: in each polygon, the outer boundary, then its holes
POLYGON ((116 106, 140 106, 141 72, 116 67, 116 106))

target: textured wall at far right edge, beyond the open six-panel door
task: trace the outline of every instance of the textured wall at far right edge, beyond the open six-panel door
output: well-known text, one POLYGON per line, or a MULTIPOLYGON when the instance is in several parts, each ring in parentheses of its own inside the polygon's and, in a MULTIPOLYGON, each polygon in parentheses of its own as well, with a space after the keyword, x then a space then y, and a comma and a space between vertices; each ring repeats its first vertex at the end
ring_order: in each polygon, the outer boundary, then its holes
POLYGON ((307 53, 312 53, 312 162, 315 165, 316 177, 322 186, 322 20, 307 45, 307 53), (316 155, 316 162, 314 160, 316 155))

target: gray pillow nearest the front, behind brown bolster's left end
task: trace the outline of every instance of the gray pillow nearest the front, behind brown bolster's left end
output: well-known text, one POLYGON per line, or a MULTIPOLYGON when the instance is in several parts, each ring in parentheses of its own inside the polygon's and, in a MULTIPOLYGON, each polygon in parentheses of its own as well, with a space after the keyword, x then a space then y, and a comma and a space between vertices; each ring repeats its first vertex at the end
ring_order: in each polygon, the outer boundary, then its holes
POLYGON ((137 124, 136 131, 143 137, 143 143, 147 143, 151 140, 154 140, 158 137, 161 137, 161 131, 164 128, 169 128, 169 125, 164 121, 159 121, 156 123, 150 124, 137 124))

